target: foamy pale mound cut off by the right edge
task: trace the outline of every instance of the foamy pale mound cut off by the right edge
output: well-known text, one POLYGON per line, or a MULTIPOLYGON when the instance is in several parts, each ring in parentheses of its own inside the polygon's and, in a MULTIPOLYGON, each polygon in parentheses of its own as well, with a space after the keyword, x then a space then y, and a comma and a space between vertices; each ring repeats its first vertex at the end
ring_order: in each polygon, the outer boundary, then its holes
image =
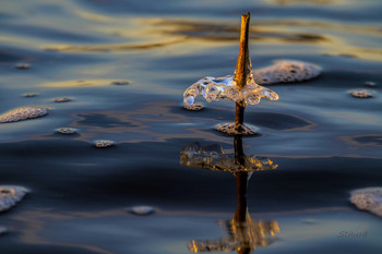
POLYGON ((350 202, 361 210, 382 217, 382 188, 365 188, 350 192, 350 202))

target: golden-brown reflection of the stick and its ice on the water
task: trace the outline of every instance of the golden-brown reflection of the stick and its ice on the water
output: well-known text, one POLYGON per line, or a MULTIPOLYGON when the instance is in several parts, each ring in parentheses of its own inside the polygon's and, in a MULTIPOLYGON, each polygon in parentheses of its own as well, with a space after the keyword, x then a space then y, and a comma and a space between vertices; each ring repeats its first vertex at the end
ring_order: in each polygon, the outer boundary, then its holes
POLYGON ((251 173, 275 169, 277 165, 273 165, 268 158, 246 156, 241 136, 235 136, 234 147, 234 157, 227 157, 222 146, 200 147, 198 143, 186 146, 180 153, 180 165, 232 172, 237 185, 238 203, 234 218, 218 221, 226 237, 216 240, 192 240, 188 244, 192 253, 236 251, 239 254, 249 254, 259 246, 270 245, 279 232, 276 220, 253 220, 247 205, 247 188, 251 173))

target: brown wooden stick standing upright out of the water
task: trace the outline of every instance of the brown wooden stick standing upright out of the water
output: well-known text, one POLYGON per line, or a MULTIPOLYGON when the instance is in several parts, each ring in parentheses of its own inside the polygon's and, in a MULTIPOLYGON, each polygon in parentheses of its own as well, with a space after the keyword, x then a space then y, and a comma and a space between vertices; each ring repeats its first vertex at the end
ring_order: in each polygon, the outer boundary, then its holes
MULTIPOLYGON (((251 69, 251 59, 249 57, 249 23, 251 20, 251 14, 248 12, 247 14, 241 15, 241 28, 240 28, 240 50, 239 57, 236 64, 236 75, 235 81, 236 85, 239 88, 242 88, 247 85, 247 76, 250 73, 251 69)), ((240 126, 243 124, 244 120, 244 107, 240 104, 236 102, 236 116, 235 116, 235 124, 240 126)))

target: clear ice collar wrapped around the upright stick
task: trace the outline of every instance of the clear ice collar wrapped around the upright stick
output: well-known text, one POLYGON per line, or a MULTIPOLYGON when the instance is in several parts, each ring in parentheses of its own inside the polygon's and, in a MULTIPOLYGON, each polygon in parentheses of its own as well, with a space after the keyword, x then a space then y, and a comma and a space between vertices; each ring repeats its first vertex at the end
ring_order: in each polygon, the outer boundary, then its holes
POLYGON ((249 75, 247 85, 239 88, 236 85, 235 76, 227 75, 223 77, 206 76, 192 84, 184 90, 184 108, 193 107, 196 96, 202 95, 207 102, 219 99, 231 99, 235 102, 247 105, 256 105, 262 97, 271 100, 277 100, 278 95, 253 82, 252 75, 249 75))

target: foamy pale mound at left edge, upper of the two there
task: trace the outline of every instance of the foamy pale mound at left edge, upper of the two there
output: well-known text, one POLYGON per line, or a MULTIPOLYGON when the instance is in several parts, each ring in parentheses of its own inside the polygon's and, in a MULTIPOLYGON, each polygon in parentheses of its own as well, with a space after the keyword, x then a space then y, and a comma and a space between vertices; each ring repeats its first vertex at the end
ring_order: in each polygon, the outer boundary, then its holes
POLYGON ((20 107, 0 114, 0 123, 17 122, 27 119, 39 118, 48 114, 48 109, 43 107, 20 107))

